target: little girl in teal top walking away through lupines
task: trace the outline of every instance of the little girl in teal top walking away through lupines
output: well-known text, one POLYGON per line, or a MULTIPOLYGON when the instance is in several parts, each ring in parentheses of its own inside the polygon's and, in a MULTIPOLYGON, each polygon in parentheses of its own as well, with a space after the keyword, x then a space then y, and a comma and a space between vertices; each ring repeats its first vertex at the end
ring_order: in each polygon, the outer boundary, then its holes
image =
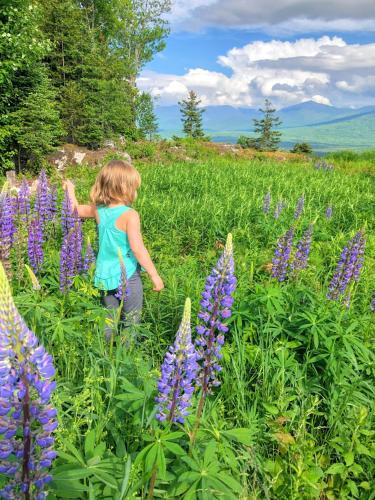
MULTIPOLYGON (((90 193, 91 205, 79 205, 74 184, 69 180, 64 182, 72 208, 77 210, 79 217, 95 218, 98 224, 99 252, 94 284, 103 291, 103 303, 111 310, 120 306, 116 294, 121 279, 119 250, 121 251, 128 291, 122 313, 127 323, 140 321, 143 305, 141 267, 150 276, 155 292, 164 288, 163 281, 143 244, 139 215, 131 208, 140 185, 139 172, 121 160, 110 161, 99 172, 90 193)), ((107 325, 107 336, 112 332, 113 327, 107 325)))

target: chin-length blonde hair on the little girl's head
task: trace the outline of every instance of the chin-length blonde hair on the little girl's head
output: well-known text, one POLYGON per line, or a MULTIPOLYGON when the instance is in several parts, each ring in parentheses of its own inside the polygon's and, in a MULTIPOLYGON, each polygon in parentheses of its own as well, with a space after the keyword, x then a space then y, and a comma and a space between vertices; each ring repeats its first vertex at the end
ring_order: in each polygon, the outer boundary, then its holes
POLYGON ((122 202, 131 205, 141 185, 138 170, 123 160, 111 160, 99 172, 91 188, 90 198, 95 205, 122 202))

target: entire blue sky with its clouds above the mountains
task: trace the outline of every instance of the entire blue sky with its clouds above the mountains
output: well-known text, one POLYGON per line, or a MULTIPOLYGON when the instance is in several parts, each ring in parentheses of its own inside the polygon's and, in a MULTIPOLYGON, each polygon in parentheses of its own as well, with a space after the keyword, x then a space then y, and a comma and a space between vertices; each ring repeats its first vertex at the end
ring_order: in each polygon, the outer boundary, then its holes
POLYGON ((174 0, 166 49, 138 85, 159 105, 375 104, 374 0, 174 0))

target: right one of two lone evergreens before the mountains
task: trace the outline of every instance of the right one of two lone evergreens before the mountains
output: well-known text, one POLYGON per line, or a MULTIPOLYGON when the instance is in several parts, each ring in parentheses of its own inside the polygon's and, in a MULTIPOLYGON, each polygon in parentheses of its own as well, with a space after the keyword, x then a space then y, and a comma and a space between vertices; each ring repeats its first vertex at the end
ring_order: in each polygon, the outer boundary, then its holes
POLYGON ((281 120, 275 113, 276 109, 272 107, 271 102, 266 99, 264 109, 260 109, 263 113, 261 120, 254 119, 254 132, 260 134, 256 139, 257 149, 260 151, 276 151, 280 139, 281 132, 275 130, 275 127, 281 125, 281 120))

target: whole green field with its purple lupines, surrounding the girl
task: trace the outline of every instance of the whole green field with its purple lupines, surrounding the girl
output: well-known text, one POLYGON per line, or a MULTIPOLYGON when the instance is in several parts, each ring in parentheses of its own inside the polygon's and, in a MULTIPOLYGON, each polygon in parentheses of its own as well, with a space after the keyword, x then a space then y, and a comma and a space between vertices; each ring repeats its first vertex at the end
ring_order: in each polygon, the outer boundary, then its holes
POLYGON ((3 188, 0 498, 374 498, 374 167, 136 166, 166 288, 112 341, 95 223, 54 171, 3 188))

